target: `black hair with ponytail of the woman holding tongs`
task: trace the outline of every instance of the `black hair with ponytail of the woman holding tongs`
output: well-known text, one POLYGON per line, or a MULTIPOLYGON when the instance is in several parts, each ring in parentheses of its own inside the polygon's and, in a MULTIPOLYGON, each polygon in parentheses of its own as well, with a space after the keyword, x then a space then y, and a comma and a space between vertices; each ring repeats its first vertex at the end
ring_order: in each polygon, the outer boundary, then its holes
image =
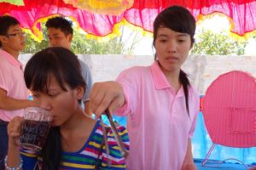
MULTIPOLYGON (((171 6, 169 8, 165 8, 154 20, 154 39, 153 44, 157 37, 157 31, 160 27, 166 27, 171 29, 172 31, 182 32, 189 34, 191 40, 191 46, 195 42, 195 18, 189 12, 187 8, 183 8, 181 6, 171 6)), ((156 59, 156 55, 154 56, 156 59)), ((189 113, 189 78, 184 71, 180 71, 179 73, 179 81, 183 85, 183 90, 186 99, 186 109, 189 113)))

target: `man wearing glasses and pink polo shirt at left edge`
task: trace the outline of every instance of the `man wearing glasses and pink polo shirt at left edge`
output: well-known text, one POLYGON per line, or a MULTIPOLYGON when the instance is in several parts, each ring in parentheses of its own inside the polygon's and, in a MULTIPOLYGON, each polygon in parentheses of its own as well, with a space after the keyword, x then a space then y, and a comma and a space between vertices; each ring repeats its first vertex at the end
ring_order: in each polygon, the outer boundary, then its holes
POLYGON ((25 48, 25 33, 18 20, 0 17, 0 169, 8 149, 7 125, 14 116, 23 116, 26 107, 37 106, 28 100, 23 68, 18 60, 25 48))

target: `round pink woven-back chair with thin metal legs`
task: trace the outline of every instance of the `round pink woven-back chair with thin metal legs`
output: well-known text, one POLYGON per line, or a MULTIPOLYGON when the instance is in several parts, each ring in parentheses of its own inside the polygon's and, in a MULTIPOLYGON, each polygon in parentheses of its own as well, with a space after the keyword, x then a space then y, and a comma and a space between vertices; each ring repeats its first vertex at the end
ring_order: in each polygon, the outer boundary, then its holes
MULTIPOLYGON (((256 146, 256 83, 254 77, 242 71, 225 73, 207 88, 202 102, 202 113, 212 139, 212 147, 202 162, 202 166, 212 167, 207 166, 207 161, 216 144, 234 148, 256 146)), ((235 158, 229 159, 240 161, 235 158)), ((219 166, 222 162, 218 161, 217 165, 219 166)), ((243 162, 241 163, 244 165, 243 162)))

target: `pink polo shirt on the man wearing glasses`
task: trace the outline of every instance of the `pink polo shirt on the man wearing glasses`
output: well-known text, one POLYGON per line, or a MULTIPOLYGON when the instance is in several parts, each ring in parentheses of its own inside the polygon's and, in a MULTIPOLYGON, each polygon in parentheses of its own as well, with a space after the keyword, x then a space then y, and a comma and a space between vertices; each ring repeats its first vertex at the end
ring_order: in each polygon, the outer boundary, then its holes
MULTIPOLYGON (((0 49, 0 88, 11 98, 28 99, 21 63, 2 49, 0 49)), ((14 116, 22 116, 23 111, 0 110, 0 119, 9 122, 14 116)))

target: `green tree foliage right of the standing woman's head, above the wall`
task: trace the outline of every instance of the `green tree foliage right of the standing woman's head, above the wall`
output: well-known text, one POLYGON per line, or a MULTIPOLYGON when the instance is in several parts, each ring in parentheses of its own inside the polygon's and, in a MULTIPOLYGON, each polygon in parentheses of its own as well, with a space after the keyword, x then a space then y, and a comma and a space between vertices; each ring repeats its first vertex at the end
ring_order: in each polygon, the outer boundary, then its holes
POLYGON ((247 42, 239 42, 221 31, 215 33, 211 30, 204 30, 195 34, 195 44, 191 54, 209 54, 209 55, 242 55, 245 53, 247 42))

